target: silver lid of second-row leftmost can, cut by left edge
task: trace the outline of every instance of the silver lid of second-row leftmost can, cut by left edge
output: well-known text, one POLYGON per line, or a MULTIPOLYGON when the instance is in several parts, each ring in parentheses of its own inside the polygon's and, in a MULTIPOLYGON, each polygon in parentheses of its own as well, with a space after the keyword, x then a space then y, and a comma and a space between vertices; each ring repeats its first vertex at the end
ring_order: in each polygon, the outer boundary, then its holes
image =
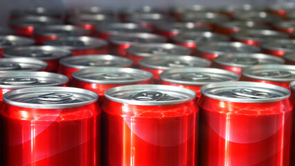
POLYGON ((23 89, 36 86, 63 86, 69 78, 55 73, 42 71, 0 72, 0 89, 23 89))

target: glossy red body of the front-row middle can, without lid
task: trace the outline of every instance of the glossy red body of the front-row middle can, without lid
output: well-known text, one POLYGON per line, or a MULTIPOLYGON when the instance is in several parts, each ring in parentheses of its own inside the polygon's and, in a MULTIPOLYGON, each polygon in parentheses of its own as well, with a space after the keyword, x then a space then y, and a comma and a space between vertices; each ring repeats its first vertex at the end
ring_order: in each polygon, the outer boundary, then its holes
POLYGON ((193 166, 197 164, 196 101, 138 106, 102 104, 102 165, 193 166))

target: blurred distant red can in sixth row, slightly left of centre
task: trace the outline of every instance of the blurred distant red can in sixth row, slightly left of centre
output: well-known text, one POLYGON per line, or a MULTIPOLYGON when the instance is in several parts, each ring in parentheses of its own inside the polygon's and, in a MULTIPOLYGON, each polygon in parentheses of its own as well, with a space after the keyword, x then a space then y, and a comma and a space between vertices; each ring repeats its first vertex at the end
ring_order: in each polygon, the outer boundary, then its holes
POLYGON ((96 37, 107 39, 113 35, 120 35, 120 33, 151 33, 152 29, 143 27, 136 23, 109 23, 100 24, 96 28, 96 37))

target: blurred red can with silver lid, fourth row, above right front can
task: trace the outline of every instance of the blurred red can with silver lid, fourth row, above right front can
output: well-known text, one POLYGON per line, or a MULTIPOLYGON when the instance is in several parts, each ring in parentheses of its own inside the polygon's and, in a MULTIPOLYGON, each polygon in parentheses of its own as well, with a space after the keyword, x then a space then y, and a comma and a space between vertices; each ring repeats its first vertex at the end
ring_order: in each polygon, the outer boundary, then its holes
POLYGON ((215 57, 229 53, 258 53, 260 48, 240 42, 201 43, 196 48, 196 55, 213 61, 215 57))

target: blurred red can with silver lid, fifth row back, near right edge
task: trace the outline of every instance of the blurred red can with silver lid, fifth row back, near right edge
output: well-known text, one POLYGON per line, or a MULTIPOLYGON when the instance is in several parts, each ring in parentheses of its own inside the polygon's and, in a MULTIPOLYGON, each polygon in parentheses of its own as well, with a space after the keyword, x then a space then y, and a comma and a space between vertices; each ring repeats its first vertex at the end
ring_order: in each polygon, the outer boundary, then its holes
POLYGON ((260 46, 262 42, 271 41, 274 39, 288 39, 289 34, 280 33, 274 30, 244 30, 231 35, 234 41, 244 44, 260 46))

